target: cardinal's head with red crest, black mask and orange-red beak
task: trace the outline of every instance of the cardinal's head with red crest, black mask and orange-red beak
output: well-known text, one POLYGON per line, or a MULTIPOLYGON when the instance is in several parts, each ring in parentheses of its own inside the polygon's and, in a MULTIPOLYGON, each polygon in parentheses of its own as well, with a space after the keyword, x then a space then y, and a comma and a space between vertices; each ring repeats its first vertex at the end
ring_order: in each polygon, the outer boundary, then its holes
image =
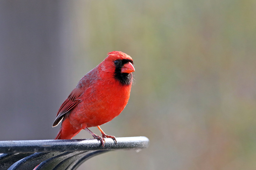
POLYGON ((101 63, 102 70, 110 73, 122 85, 132 85, 133 67, 132 57, 121 51, 112 51, 101 63))

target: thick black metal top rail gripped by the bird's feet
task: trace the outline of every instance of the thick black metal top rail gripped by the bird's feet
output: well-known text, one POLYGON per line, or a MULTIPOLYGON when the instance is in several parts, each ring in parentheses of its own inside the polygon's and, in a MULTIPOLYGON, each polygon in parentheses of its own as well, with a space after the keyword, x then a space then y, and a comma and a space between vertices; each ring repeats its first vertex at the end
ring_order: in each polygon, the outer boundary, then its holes
POLYGON ((0 153, 139 149, 149 145, 147 137, 117 137, 117 144, 110 138, 105 141, 104 148, 97 139, 0 141, 0 153))

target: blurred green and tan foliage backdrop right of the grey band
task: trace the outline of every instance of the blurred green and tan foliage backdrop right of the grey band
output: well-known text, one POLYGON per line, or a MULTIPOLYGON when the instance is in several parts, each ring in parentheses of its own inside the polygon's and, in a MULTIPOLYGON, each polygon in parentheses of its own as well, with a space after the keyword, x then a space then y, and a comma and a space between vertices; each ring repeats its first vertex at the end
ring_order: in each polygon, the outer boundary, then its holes
POLYGON ((69 4, 74 82, 110 51, 131 55, 130 100, 102 128, 151 142, 139 153, 92 158, 84 169, 255 169, 254 0, 69 4))

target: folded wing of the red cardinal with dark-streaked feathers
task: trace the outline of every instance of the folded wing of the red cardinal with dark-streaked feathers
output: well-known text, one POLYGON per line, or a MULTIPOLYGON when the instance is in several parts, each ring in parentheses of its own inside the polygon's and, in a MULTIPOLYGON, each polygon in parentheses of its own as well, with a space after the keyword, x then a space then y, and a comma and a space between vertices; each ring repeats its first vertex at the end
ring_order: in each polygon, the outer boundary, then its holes
POLYGON ((69 94, 68 98, 60 106, 60 109, 57 113, 55 121, 52 124, 52 127, 57 126, 61 122, 63 117, 81 101, 79 96, 84 92, 85 89, 86 88, 83 88, 83 86, 76 87, 69 94))

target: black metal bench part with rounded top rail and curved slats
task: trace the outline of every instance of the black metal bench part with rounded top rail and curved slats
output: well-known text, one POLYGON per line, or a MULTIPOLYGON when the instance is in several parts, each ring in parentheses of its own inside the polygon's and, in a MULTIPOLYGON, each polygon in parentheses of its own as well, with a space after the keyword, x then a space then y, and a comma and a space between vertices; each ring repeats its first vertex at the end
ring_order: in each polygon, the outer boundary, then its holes
POLYGON ((0 141, 0 153, 4 153, 0 155, 0 169, 33 169, 42 162, 36 170, 74 170, 100 153, 141 149, 149 145, 147 137, 119 137, 116 138, 117 144, 112 139, 105 140, 104 148, 97 139, 0 141))

